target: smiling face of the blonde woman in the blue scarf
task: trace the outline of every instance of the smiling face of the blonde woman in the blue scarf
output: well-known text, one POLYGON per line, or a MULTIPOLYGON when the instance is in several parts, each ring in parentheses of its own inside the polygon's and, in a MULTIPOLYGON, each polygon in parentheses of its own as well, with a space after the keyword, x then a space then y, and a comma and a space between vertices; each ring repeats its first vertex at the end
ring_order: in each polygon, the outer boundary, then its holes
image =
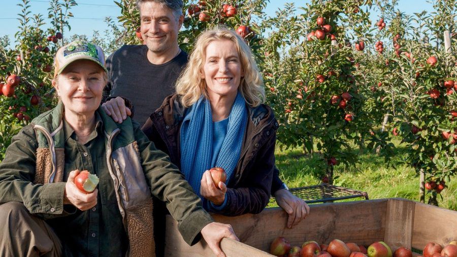
POLYGON ((241 77, 244 76, 240 56, 230 40, 212 41, 205 51, 202 77, 210 99, 236 97, 241 77))

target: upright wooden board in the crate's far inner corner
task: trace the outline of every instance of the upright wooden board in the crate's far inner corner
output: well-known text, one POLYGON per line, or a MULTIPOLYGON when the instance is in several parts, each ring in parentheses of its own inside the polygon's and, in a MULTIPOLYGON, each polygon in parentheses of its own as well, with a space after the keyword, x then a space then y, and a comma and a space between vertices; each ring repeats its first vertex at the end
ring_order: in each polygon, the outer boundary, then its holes
POLYGON ((393 198, 387 201, 384 242, 392 251, 404 246, 411 249, 415 203, 393 198))

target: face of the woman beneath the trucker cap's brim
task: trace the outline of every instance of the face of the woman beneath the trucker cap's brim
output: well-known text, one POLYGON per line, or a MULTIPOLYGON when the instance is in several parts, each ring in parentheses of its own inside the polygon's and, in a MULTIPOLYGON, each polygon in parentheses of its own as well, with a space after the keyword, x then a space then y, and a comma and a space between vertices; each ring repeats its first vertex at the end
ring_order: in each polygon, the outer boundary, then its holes
POLYGON ((92 115, 99 108, 106 84, 103 73, 95 62, 77 60, 52 81, 66 112, 92 115))

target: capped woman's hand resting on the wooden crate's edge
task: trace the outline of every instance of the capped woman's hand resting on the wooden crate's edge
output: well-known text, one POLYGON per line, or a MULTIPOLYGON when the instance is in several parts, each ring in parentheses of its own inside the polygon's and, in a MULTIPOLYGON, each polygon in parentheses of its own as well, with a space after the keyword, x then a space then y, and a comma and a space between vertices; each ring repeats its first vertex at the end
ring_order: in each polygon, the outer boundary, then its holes
POLYGON ((202 229, 201 233, 206 243, 208 243, 208 246, 217 257, 225 257, 225 253, 219 247, 222 238, 227 237, 240 241, 233 232, 233 228, 230 224, 211 222, 202 229))

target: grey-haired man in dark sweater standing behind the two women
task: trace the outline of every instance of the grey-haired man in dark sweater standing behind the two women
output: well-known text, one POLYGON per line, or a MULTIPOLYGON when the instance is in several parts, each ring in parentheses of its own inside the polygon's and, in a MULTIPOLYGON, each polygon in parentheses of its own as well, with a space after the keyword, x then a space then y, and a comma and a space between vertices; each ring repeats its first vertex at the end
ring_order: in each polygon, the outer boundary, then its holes
MULTIPOLYGON (((133 119, 144 124, 165 97, 174 92, 174 84, 187 63, 187 53, 178 44, 183 6, 182 0, 137 0, 140 31, 146 45, 123 46, 107 59, 110 79, 104 97, 109 95, 111 99, 102 107, 115 121, 120 123, 132 114, 125 108, 124 99, 135 108, 133 119)), ((309 207, 287 189, 276 169, 271 192, 288 213, 287 227, 291 228, 305 218, 309 207)))

